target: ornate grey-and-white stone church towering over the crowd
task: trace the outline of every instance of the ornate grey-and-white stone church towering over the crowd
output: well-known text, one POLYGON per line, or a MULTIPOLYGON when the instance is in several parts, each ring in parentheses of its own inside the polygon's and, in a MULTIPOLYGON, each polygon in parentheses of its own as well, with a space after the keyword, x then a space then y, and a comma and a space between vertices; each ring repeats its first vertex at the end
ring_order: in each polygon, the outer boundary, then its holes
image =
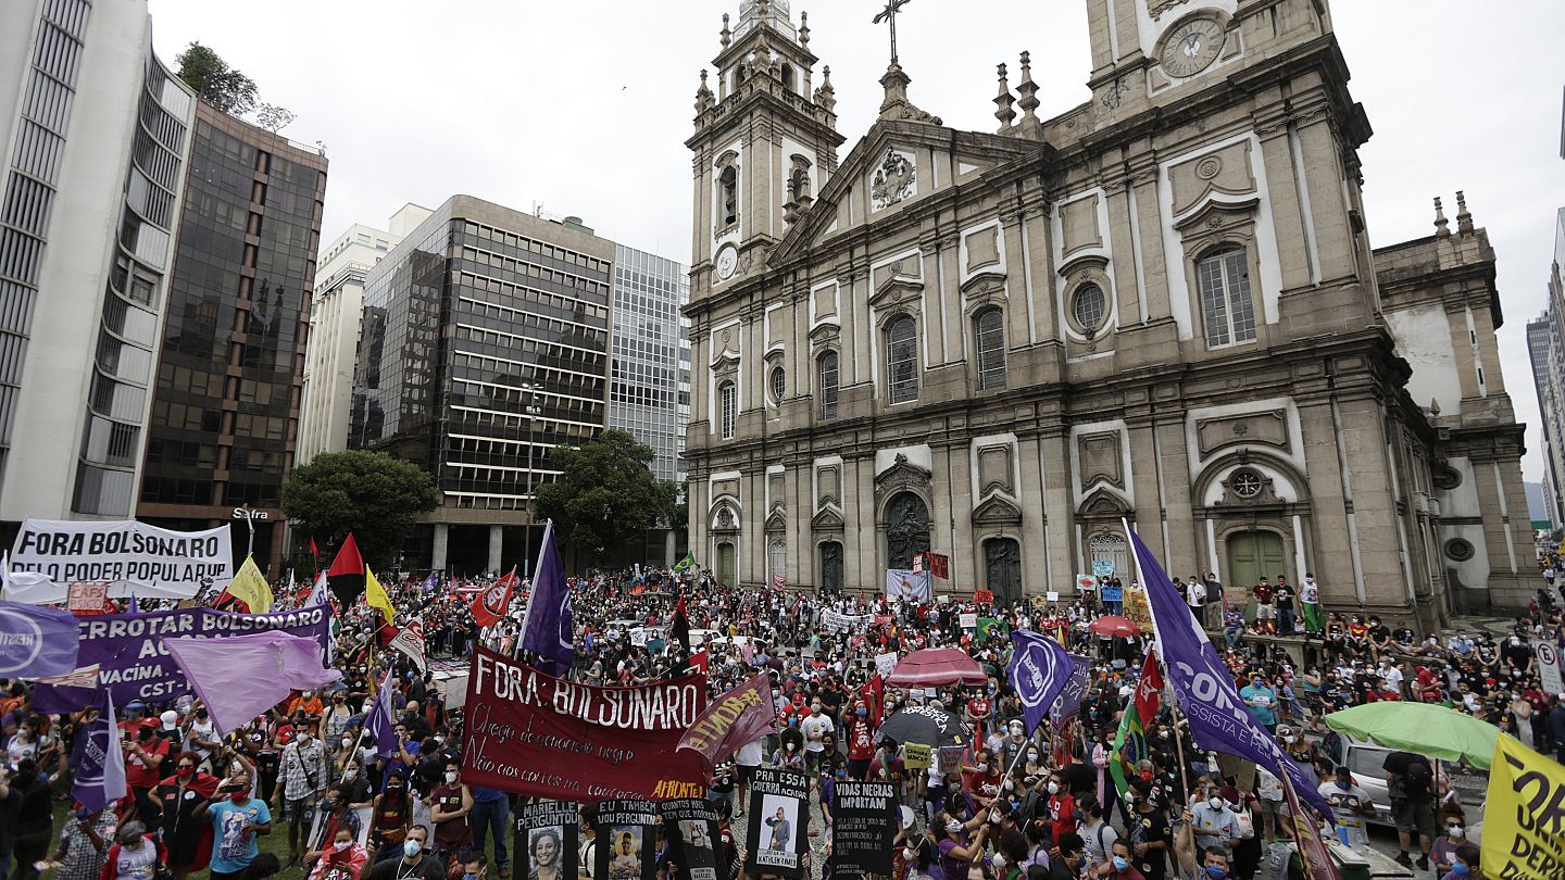
POLYGON ((1180 578, 1311 572, 1424 626, 1524 604, 1495 254, 1460 194, 1371 246, 1326 0, 1085 2, 1091 102, 1039 117, 1022 53, 961 132, 894 60, 845 157, 808 16, 723 17, 687 141, 692 551, 876 592, 931 550, 937 592, 1069 597, 1135 576, 1128 520, 1180 578))

